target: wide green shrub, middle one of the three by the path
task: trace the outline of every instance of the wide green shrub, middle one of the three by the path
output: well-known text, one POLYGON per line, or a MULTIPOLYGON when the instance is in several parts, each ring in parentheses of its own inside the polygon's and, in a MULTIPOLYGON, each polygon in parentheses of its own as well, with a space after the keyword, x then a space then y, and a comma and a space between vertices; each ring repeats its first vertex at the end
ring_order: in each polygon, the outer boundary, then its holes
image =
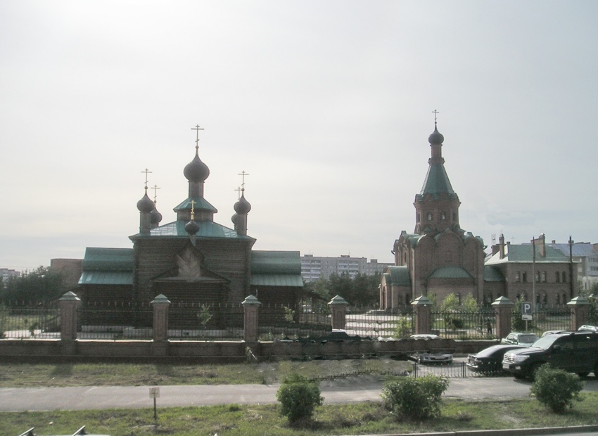
POLYGON ((440 416, 440 402, 447 390, 446 377, 428 374, 419 378, 386 383, 382 390, 385 406, 397 417, 421 421, 440 416))

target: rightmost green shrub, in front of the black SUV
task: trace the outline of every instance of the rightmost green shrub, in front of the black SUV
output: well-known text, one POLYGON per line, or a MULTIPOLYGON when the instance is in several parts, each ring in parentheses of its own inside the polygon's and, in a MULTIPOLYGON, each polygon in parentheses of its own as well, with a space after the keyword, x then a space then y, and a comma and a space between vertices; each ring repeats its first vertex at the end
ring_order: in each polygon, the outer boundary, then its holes
POLYGON ((583 381, 575 374, 542 365, 534 374, 530 392, 554 413, 564 413, 573 407, 573 400, 581 401, 582 389, 583 381))

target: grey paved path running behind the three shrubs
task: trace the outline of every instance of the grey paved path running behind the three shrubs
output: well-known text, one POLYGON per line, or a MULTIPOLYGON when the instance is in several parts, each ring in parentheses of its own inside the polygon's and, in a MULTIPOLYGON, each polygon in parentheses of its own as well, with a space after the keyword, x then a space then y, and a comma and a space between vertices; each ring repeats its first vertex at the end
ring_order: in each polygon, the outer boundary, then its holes
MULTIPOLYGON (((214 404, 272 404, 274 385, 160 386, 158 407, 214 404)), ((344 378, 321 385, 324 403, 380 401, 383 383, 373 377, 344 378)), ((585 390, 598 390, 588 378, 585 390)), ((452 378, 445 397, 464 399, 526 398, 530 383, 511 378, 452 378)), ((149 386, 0 388, 0 411, 139 409, 153 407, 149 386)))

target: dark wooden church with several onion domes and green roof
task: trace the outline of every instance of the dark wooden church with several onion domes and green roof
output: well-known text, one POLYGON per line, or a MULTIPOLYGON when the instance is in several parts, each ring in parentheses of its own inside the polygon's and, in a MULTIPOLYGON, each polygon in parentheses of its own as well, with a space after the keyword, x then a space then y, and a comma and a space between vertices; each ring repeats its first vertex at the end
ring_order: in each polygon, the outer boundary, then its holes
POLYGON ((255 295, 262 307, 298 307, 299 252, 252 249, 256 240, 247 234, 251 205, 244 186, 233 206, 232 228, 214 221, 217 209, 204 197, 210 169, 199 158, 199 139, 183 174, 189 188, 174 207, 174 222, 160 225, 146 181, 137 202, 139 233, 129 236, 133 247, 87 248, 79 280, 84 306, 148 304, 163 294, 174 304, 238 304, 255 295))

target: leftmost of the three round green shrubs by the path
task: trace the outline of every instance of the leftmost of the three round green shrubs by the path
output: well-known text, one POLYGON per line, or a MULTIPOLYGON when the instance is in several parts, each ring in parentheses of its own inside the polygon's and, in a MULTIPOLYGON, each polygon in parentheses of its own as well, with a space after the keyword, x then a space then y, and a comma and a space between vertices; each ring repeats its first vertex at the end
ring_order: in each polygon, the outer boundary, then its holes
POLYGON ((303 418, 311 418, 314 409, 322 405, 324 398, 320 396, 317 383, 293 374, 284 380, 276 392, 276 400, 281 403, 281 415, 293 423, 303 418))

